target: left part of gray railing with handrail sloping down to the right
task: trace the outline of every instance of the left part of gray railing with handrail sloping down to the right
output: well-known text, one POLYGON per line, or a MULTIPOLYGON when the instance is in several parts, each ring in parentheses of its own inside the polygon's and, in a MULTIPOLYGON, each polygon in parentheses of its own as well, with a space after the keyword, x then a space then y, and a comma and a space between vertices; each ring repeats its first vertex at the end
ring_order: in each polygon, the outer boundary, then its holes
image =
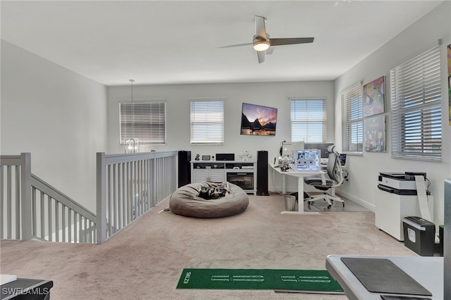
POLYGON ((0 239, 97 242, 96 215, 33 175, 30 157, 0 156, 0 239))

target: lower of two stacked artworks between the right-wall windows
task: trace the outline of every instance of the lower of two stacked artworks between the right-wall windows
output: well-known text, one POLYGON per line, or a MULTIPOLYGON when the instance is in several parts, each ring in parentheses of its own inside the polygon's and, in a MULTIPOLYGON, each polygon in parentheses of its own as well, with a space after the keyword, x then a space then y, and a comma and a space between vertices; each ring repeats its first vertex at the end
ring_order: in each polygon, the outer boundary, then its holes
POLYGON ((385 115, 364 120, 364 145, 367 152, 385 152, 385 115))

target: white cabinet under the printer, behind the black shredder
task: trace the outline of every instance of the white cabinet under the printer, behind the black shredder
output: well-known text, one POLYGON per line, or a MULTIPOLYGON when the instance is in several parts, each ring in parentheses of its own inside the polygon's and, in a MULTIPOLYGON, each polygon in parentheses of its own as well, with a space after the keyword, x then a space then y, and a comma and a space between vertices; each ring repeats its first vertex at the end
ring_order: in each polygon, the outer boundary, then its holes
MULTIPOLYGON (((429 211, 433 218, 433 197, 428 196, 429 211)), ((376 227, 399 241, 404 241, 402 219, 421 216, 418 196, 392 194, 376 189, 376 227)))

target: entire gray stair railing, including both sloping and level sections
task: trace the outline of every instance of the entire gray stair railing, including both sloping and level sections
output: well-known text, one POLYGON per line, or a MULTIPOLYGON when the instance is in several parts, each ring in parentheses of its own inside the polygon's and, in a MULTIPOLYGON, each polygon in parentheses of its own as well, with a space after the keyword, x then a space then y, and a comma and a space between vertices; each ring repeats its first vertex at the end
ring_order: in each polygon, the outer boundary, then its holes
POLYGON ((101 244, 177 189, 176 151, 97 154, 97 215, 0 156, 0 239, 101 244))

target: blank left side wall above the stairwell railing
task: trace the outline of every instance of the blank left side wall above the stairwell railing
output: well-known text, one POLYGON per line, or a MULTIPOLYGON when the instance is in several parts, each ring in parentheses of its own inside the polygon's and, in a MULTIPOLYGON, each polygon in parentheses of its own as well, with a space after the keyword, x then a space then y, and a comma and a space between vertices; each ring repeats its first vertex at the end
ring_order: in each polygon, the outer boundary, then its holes
POLYGON ((106 151, 106 87, 1 41, 2 155, 95 213, 96 152, 106 151))

